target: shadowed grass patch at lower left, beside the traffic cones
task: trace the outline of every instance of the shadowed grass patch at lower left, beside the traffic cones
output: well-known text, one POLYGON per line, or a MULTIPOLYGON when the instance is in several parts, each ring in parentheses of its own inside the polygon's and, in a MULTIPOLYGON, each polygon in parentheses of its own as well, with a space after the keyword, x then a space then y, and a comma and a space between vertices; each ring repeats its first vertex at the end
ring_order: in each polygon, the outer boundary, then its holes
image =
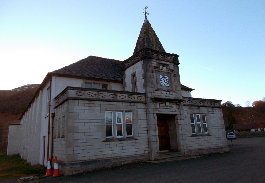
POLYGON ((45 167, 40 165, 31 166, 18 155, 0 155, 0 179, 43 176, 45 173, 45 167))

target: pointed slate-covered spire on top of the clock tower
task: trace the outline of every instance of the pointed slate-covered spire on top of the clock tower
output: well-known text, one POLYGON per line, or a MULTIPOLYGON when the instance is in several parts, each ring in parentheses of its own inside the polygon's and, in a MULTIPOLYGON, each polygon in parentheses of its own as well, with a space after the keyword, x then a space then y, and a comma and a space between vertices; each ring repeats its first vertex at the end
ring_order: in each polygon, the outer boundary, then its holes
POLYGON ((133 55, 142 48, 150 48, 159 52, 166 52, 147 18, 144 19, 144 24, 136 42, 133 55))

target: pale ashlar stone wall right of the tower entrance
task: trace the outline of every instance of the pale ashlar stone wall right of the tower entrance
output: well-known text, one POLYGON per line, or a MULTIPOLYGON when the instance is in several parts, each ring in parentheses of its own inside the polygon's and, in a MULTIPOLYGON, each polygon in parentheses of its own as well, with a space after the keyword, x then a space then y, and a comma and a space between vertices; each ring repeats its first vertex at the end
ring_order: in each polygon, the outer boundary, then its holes
POLYGON ((183 108, 189 154, 199 155, 229 151, 222 108, 199 106, 183 106, 183 108), (190 114, 205 114, 208 133, 192 134, 190 114))

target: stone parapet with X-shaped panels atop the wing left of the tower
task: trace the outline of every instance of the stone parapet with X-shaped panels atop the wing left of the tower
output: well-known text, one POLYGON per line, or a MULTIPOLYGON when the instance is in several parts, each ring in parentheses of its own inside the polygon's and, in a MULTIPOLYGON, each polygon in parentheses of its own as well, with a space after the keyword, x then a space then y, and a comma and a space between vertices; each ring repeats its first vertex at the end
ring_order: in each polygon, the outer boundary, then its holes
POLYGON ((102 90, 93 88, 66 87, 59 95, 54 98, 55 108, 68 99, 146 103, 145 93, 102 90))

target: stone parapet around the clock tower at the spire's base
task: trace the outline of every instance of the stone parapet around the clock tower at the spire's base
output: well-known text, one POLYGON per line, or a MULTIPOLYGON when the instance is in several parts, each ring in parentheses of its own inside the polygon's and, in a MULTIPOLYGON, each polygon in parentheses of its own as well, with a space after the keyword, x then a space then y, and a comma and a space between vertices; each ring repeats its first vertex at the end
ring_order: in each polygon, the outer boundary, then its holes
POLYGON ((123 61, 121 65, 122 65, 122 70, 125 70, 127 67, 137 63, 138 61, 144 58, 159 59, 159 60, 163 60, 167 62, 173 62, 178 65, 179 64, 178 57, 179 55, 177 54, 163 53, 163 52, 158 52, 155 50, 143 48, 137 54, 123 61))

